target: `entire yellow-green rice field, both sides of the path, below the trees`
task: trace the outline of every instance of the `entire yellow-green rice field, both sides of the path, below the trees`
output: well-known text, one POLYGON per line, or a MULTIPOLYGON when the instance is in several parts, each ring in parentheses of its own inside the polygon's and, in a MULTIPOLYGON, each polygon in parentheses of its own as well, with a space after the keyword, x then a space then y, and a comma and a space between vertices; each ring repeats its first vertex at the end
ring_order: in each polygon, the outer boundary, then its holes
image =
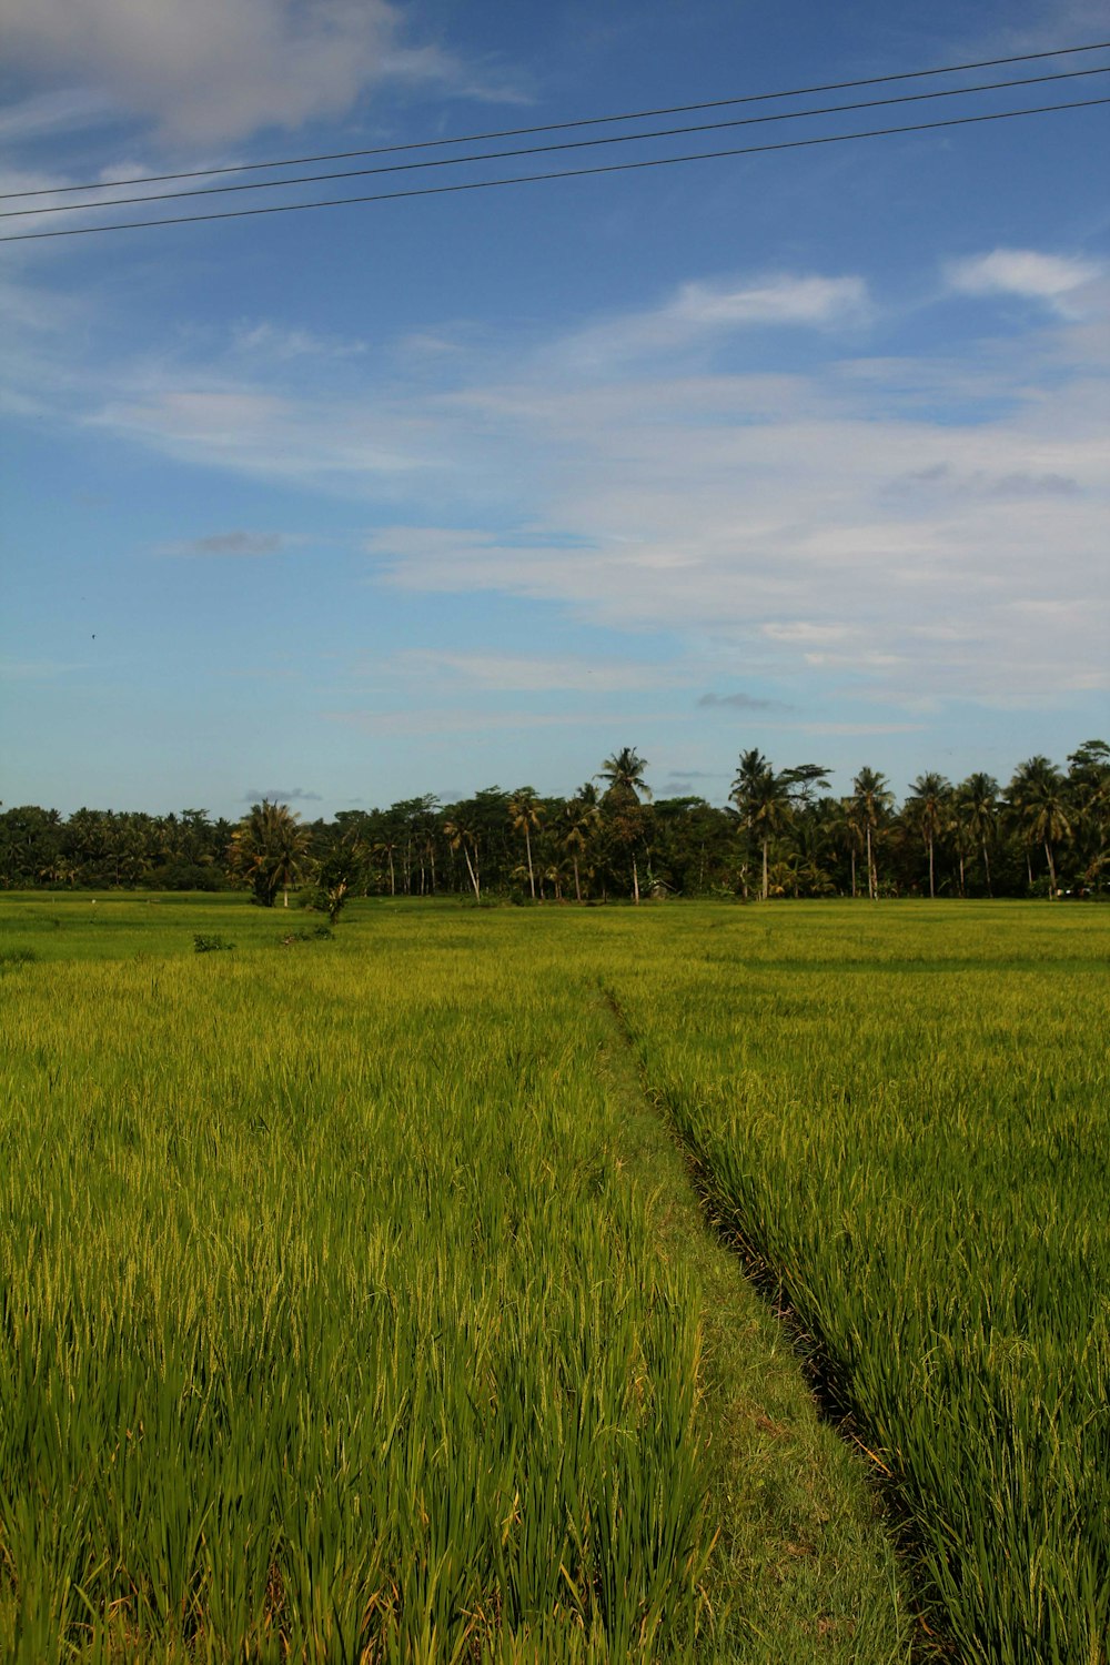
POLYGON ((0 1655, 1105 1662, 1110 914, 313 922, 0 902, 0 1655))

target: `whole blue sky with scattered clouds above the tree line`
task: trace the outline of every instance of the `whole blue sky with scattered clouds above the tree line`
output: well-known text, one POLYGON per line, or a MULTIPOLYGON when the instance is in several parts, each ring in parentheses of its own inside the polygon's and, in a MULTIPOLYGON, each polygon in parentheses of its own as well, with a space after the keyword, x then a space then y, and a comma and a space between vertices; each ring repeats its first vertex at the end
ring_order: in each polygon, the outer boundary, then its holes
MULTIPOLYGON (((1087 0, 0 12, 5 191, 1110 35, 1087 0)), ((624 744, 664 794, 722 803, 749 746, 902 793, 1107 736, 1108 138, 1092 108, 0 246, 3 801, 315 816, 571 791, 624 744)))

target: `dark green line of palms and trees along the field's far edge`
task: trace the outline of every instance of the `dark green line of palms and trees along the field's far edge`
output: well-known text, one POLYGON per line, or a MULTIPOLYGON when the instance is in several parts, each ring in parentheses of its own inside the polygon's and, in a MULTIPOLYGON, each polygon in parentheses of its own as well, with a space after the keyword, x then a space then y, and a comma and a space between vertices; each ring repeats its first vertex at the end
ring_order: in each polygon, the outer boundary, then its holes
POLYGON ((829 791, 820 764, 741 754, 729 803, 652 799, 626 746, 569 798, 488 786, 303 821, 263 801, 240 823, 205 809, 23 806, 0 813, 0 884, 55 889, 290 892, 333 917, 349 896, 597 902, 627 896, 1102 896, 1110 871, 1110 746, 1060 768, 1028 758, 1002 786, 925 773, 899 804, 879 771, 829 791))

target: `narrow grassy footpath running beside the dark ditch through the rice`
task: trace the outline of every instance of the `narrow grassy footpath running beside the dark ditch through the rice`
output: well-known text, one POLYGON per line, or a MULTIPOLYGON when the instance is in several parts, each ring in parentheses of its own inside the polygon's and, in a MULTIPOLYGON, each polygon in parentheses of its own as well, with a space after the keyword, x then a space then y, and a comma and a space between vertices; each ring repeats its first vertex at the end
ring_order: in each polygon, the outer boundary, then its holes
POLYGON ((686 1162, 611 1007, 602 1072, 621 1107, 617 1157, 646 1199, 657 1255, 702 1300, 701 1432, 714 1658, 751 1665, 909 1660, 894 1548, 864 1465, 817 1415, 782 1325, 706 1222, 686 1162))

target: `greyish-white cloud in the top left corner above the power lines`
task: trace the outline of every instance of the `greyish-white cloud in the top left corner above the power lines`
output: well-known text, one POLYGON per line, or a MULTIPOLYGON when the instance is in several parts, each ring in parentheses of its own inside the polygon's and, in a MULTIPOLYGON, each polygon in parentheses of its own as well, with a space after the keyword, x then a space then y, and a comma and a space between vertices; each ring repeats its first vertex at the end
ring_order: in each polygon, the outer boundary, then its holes
POLYGON ((336 117, 386 80, 511 97, 441 47, 408 43, 388 0, 2 0, 0 18, 10 65, 80 77, 173 143, 336 117))

